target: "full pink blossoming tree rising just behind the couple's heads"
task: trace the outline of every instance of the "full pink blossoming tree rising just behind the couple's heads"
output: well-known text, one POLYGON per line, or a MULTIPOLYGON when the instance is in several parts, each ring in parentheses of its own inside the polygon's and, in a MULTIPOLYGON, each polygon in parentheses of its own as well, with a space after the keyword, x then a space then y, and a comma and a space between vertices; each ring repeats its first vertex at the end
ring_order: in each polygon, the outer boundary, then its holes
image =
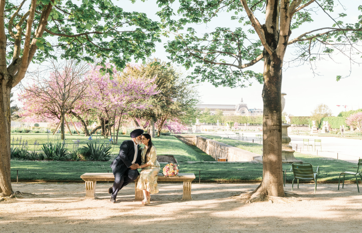
POLYGON ((108 74, 102 75, 99 69, 100 67, 93 68, 87 78, 92 83, 89 88, 92 98, 89 98, 88 105, 100 112, 100 118, 108 121, 109 127, 105 130, 105 137, 111 135, 110 125, 113 126, 114 143, 117 143, 122 117, 132 110, 149 107, 144 100, 157 94, 157 86, 153 84, 155 77, 119 77, 114 70, 115 78, 110 79, 108 74))

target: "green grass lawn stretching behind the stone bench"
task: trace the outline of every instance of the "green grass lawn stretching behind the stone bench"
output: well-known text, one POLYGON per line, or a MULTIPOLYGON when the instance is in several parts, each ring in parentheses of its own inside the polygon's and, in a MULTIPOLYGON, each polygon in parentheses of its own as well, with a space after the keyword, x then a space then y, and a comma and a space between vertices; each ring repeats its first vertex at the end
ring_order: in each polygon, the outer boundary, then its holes
MULTIPOLYGON (((16 135, 14 133, 14 135, 16 135)), ((20 134, 19 134, 20 135, 20 134)), ((46 140, 46 134, 32 134, 37 136, 38 141, 46 140)), ((21 134, 22 138, 29 137, 30 134, 21 134)), ((16 138, 17 136, 15 136, 16 138)), ((19 136, 20 137, 20 136, 19 136)), ((76 136, 73 136, 75 139, 76 136)), ((206 136, 214 140, 222 141, 229 145, 261 154, 262 146, 257 143, 248 143, 233 139, 221 139, 218 136, 206 136)), ((121 136, 120 140, 126 140, 129 136, 121 136)), ((34 141, 34 136, 29 137, 34 141)), ((29 142, 28 139, 28 142, 29 142)), ((71 136, 67 136, 72 140, 71 136)), ((81 141, 87 138, 82 137, 81 141)), ((186 161, 214 161, 209 155, 205 154, 195 146, 187 146, 173 136, 161 136, 153 140, 157 147, 159 155, 174 155, 180 165, 180 172, 194 173, 198 179, 199 170, 201 170, 202 180, 261 180, 262 164, 260 163, 186 163, 186 161)), ((85 142, 82 142, 85 143, 85 142)), ((118 144, 121 142, 119 141, 118 144)), ((68 145, 68 147, 70 147, 68 145)), ((114 156, 118 153, 118 147, 114 149, 114 156)), ((295 157, 303 162, 312 163, 316 169, 320 167, 320 181, 336 181, 342 171, 355 171, 356 164, 332 159, 317 157, 313 155, 300 154, 295 152, 295 157)), ((12 179, 16 179, 16 169, 19 171, 21 180, 81 180, 80 175, 84 172, 111 172, 110 162, 93 161, 11 161, 12 179), (37 170, 37 171, 32 171, 37 170), (56 172, 54 172, 56 171, 56 172), (58 172, 59 171, 59 172, 58 172)), ((161 165, 162 166, 162 165, 161 165)), ((287 180, 292 180, 292 173, 289 172, 291 165, 283 164, 283 170, 287 170, 287 180)), ((352 176, 346 176, 347 180, 353 180, 352 176)))

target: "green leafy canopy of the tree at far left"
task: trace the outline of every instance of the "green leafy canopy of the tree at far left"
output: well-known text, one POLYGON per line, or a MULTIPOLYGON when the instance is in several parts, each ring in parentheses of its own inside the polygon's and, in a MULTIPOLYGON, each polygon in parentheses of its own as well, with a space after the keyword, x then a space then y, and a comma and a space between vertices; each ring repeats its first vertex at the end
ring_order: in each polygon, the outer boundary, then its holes
MULTIPOLYGON (((112 68, 106 68, 106 63, 114 64, 117 70, 125 68, 131 59, 145 61, 146 57, 155 52, 155 43, 160 42, 160 28, 156 21, 147 18, 145 13, 126 12, 115 6, 110 0, 37 1, 33 30, 40 25, 42 12, 47 5, 52 5, 45 32, 37 38, 38 49, 32 59, 41 63, 48 58, 57 59, 58 55, 51 53, 55 48, 62 49, 60 58, 72 58, 102 65, 102 71, 112 74, 112 68)), ((26 31, 24 17, 29 11, 18 9, 16 1, 6 1, 5 32, 7 34, 7 63, 11 63, 14 54, 16 25, 22 32, 26 31), (28 11, 26 13, 26 11, 28 11), (23 17, 24 16, 24 17, 23 17), (12 20, 11 20, 12 19, 12 20), (9 23, 10 22, 10 23, 9 23)), ((30 8, 30 5, 29 5, 30 8)), ((32 33, 32 37, 35 33, 32 33)), ((33 38, 31 38, 33 39, 33 38)), ((22 41, 22 44, 24 41, 22 41)))

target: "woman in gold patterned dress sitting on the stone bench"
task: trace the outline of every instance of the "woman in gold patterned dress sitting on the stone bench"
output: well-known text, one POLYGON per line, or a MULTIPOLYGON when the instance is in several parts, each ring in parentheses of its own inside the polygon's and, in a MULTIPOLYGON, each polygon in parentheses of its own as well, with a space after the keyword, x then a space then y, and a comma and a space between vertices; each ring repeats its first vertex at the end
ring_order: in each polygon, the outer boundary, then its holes
POLYGON ((143 191, 143 205, 150 204, 150 194, 157 194, 159 192, 157 186, 157 174, 160 171, 160 164, 157 161, 156 147, 153 146, 151 135, 148 133, 142 134, 142 144, 144 148, 141 152, 142 168, 139 175, 137 189, 143 191))

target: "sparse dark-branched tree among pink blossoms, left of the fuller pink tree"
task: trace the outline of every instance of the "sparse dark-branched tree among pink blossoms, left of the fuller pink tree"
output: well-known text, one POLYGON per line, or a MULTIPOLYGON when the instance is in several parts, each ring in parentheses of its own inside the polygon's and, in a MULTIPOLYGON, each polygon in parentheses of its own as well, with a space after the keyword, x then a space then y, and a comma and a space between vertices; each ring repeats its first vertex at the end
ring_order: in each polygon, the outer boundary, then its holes
POLYGON ((88 96, 88 80, 85 79, 88 70, 87 63, 79 64, 70 60, 52 62, 49 74, 37 72, 31 79, 33 83, 21 90, 19 100, 24 105, 22 116, 60 121, 64 140, 65 114, 88 96))

